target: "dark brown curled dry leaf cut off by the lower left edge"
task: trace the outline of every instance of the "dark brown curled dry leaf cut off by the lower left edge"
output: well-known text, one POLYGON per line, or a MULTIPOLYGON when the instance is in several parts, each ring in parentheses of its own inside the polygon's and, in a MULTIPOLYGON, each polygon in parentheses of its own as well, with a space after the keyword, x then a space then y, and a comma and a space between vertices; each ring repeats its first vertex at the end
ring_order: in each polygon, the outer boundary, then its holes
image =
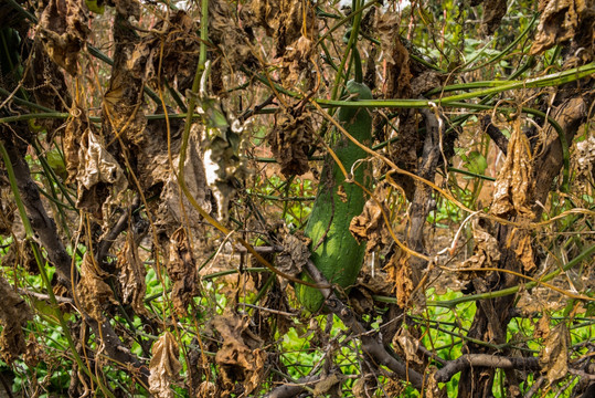
POLYGON ((0 276, 0 356, 7 364, 12 364, 26 349, 23 326, 33 320, 33 313, 26 302, 18 295, 10 284, 0 276))

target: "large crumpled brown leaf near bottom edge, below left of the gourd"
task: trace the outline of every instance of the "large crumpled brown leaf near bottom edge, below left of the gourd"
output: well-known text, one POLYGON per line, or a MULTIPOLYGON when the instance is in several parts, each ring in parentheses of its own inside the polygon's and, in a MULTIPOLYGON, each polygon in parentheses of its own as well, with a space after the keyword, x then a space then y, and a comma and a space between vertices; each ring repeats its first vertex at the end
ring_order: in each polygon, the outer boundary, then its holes
POLYGON ((266 352, 263 342, 248 329, 247 317, 236 314, 216 316, 213 327, 223 338, 215 362, 221 369, 220 386, 231 391, 236 383, 244 387, 244 396, 249 396, 264 377, 266 352))

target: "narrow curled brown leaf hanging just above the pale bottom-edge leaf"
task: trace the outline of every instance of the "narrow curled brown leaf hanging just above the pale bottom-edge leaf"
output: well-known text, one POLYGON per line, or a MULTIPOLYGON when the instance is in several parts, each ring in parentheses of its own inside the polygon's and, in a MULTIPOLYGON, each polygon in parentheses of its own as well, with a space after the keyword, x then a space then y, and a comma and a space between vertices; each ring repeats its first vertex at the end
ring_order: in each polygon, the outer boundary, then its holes
POLYGON ((183 316, 188 305, 199 294, 199 276, 187 231, 180 227, 170 238, 168 275, 173 282, 171 298, 176 312, 183 316))

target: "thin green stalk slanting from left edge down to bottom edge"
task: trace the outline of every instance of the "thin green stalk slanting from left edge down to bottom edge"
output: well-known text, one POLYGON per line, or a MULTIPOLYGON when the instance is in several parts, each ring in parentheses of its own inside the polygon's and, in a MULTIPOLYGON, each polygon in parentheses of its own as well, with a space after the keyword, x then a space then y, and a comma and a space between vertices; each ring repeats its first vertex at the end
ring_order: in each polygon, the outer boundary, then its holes
POLYGON ((68 327, 68 324, 64 320, 64 316, 62 316, 62 312, 60 311, 57 300, 54 295, 54 291, 52 289, 52 284, 50 282, 50 277, 47 276, 47 272, 45 271, 45 266, 43 264, 43 256, 41 254, 40 248, 38 243, 34 240, 35 232, 33 231, 33 228, 31 227, 31 222, 29 221, 29 217, 26 216, 26 211, 24 208, 24 205, 21 200, 21 195, 19 192, 19 188, 17 187, 17 177, 14 176, 14 170, 12 169, 12 163, 10 161, 10 157, 8 155, 7 149, 4 148, 4 143, 0 140, 0 153, 2 153, 2 159, 4 160, 4 166, 7 167, 7 172, 9 176, 10 187, 12 189, 12 195, 14 195, 14 201, 17 202, 17 208, 19 209, 19 214, 21 216, 21 221, 23 223, 23 228, 25 231, 25 240, 29 241, 31 244, 31 249, 33 250, 33 255, 35 258, 35 262, 38 263, 38 268, 40 270, 40 275, 43 281, 43 284, 45 285, 45 290, 47 291, 47 295, 50 297, 50 302, 52 303, 52 306, 55 310, 55 315, 60 322, 60 325, 62 326, 62 329, 64 331, 64 337, 66 338, 66 342, 68 343, 68 346, 71 347, 72 355, 74 357, 74 360, 76 362, 76 365, 81 370, 85 373, 94 383, 96 383, 98 386, 100 386, 102 390, 110 398, 115 398, 115 396, 106 389, 106 387, 99 381, 97 377, 88 369, 83 360, 81 359, 81 356, 78 355, 78 352, 76 350, 76 345, 74 344, 74 341, 71 336, 71 329, 68 327))

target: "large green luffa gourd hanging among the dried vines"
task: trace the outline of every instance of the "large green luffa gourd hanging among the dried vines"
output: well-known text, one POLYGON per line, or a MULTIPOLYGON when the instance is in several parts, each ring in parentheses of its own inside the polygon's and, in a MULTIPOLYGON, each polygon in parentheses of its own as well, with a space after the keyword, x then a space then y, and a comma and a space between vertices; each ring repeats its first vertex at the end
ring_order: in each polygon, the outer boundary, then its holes
MULTIPOLYGON (((372 92, 362 83, 349 81, 347 91, 352 100, 372 98, 372 92)), ((358 142, 370 146, 372 117, 368 109, 342 107, 339 109, 338 119, 358 142)), ((350 172, 353 164, 364 159, 366 153, 344 135, 338 133, 337 136, 332 150, 346 170, 350 172)), ((353 179, 370 188, 372 177, 368 161, 354 168, 353 179)), ((311 239, 311 249, 318 245, 311 254, 312 262, 333 285, 341 287, 353 285, 362 266, 365 242, 355 241, 349 231, 349 224, 353 217, 362 212, 364 203, 363 190, 355 184, 346 182, 339 166, 330 156, 327 156, 318 195, 304 232, 311 239), (320 242, 321 239, 323 239, 322 242, 320 242)), ((302 273, 301 279, 312 282, 306 273, 302 273)), ((315 287, 297 284, 296 294, 300 303, 310 312, 318 311, 325 302, 320 291, 315 287)))

